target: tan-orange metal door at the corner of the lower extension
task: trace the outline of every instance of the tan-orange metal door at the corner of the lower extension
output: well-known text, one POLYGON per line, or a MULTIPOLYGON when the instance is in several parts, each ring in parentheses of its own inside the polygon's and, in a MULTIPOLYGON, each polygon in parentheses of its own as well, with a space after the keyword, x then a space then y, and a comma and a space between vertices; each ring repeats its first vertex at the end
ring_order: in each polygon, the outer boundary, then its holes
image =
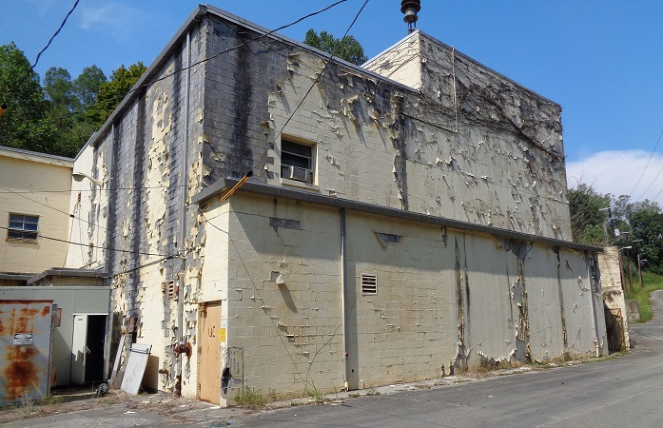
POLYGON ((221 402, 221 302, 200 305, 198 386, 200 400, 221 402))

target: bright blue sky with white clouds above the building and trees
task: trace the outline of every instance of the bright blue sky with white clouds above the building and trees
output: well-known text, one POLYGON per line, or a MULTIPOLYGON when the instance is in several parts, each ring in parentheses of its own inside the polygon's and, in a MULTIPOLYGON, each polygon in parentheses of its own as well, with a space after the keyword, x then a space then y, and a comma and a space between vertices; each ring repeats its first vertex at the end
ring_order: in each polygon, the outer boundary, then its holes
MULTIPOLYGON (((32 62, 74 0, 3 5, 0 44, 15 41, 32 62)), ((194 7, 190 0, 81 0, 36 70, 72 77, 96 64, 151 64, 194 7)), ((211 4, 267 28, 333 0, 218 0, 211 4)), ((348 0, 282 33, 342 35, 363 0, 348 0)), ((663 2, 617 0, 422 0, 418 28, 560 103, 569 184, 663 201, 663 2), (644 176, 636 187, 638 178, 644 176), (647 187, 649 187, 647 189, 647 187)), ((400 2, 371 0, 351 33, 371 57, 406 36, 400 2)))

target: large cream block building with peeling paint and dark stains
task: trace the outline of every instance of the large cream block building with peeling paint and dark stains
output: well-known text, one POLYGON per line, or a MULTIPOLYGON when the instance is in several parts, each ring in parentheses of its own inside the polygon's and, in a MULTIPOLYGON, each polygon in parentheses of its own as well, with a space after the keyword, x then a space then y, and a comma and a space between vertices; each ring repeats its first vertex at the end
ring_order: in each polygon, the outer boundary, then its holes
POLYGON ((149 386, 226 404, 607 352, 560 105, 420 31, 363 67, 268 33, 196 8, 76 158, 68 266, 109 272, 149 386))

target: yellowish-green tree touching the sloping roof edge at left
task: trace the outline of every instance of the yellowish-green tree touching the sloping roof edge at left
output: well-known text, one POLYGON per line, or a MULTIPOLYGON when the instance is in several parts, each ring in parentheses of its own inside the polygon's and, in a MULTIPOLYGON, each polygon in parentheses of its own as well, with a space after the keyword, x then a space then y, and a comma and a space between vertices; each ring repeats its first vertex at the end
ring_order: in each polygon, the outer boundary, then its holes
POLYGON ((143 62, 132 64, 129 68, 121 65, 111 73, 111 79, 99 85, 99 94, 96 103, 88 110, 88 119, 97 127, 101 127, 106 119, 113 113, 115 107, 131 91, 135 83, 143 76, 147 67, 143 62))

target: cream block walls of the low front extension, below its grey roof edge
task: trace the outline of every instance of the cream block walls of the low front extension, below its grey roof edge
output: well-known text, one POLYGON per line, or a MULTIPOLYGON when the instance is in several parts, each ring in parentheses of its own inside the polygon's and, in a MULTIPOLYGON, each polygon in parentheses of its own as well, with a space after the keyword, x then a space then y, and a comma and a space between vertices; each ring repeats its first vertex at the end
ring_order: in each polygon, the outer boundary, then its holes
MULTIPOLYGON (((339 211, 239 192, 203 216, 200 296, 223 301, 222 349, 243 350, 227 397, 241 386, 280 396, 343 388, 339 211)), ((359 388, 595 354, 600 295, 582 252, 348 211, 347 258, 359 388), (376 276, 376 294, 363 292, 363 274, 376 276)))

